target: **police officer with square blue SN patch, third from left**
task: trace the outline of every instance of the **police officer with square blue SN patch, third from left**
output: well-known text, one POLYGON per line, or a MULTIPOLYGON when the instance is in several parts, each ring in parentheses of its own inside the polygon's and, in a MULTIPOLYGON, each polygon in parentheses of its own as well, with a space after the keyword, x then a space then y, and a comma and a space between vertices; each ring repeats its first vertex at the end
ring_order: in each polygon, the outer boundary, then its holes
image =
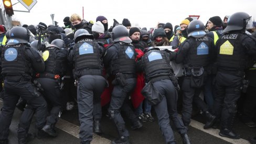
MULTIPOLYGON (((99 131, 101 120, 101 93, 106 86, 102 76, 102 56, 104 47, 93 40, 87 30, 79 29, 74 33, 73 49, 69 53, 69 61, 74 64, 74 79, 77 83, 77 100, 80 121, 81 143, 92 141, 93 120, 99 131)), ((95 129, 95 128, 94 128, 95 129)))

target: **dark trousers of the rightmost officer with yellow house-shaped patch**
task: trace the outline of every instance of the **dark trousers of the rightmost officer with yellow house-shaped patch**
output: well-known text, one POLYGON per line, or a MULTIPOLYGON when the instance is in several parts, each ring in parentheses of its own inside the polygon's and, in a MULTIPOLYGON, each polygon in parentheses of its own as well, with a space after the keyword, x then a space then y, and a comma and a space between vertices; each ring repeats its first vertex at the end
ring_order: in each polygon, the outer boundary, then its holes
POLYGON ((232 121, 237 113, 237 100, 241 94, 242 76, 218 71, 216 75, 216 99, 214 111, 221 119, 221 128, 231 130, 232 121))

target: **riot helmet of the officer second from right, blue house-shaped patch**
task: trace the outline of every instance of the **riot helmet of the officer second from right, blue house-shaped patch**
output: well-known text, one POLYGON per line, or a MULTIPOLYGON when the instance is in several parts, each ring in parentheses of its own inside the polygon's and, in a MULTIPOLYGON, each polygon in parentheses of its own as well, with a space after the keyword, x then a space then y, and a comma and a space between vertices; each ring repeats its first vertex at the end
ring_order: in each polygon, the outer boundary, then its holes
POLYGON ((200 20, 197 20, 197 19, 191 21, 188 25, 187 33, 188 33, 188 37, 194 37, 194 38, 204 37, 206 34, 204 23, 202 23, 200 20))

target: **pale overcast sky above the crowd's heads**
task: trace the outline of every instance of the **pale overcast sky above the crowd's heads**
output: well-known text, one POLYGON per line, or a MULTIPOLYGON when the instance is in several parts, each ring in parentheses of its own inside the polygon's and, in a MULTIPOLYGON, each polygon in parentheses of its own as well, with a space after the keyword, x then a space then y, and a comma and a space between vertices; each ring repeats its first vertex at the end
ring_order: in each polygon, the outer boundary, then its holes
MULTIPOLYGON (((16 2, 18 1, 12 0, 13 4, 16 2)), ((50 15, 55 14, 54 20, 59 22, 59 26, 64 26, 63 18, 66 16, 77 13, 82 17, 82 7, 84 8, 84 19, 95 22, 96 18, 102 15, 108 19, 109 27, 113 25, 113 19, 122 23, 123 18, 129 19, 132 26, 137 24, 140 27, 151 28, 155 27, 159 21, 162 23, 170 22, 174 27, 189 15, 200 15, 199 20, 206 23, 212 16, 220 16, 223 19, 226 15, 238 11, 246 12, 253 17, 254 21, 256 20, 255 0, 37 0, 30 13, 14 11, 13 20, 20 21, 22 25, 37 25, 39 22, 50 25, 52 23, 50 15)), ((27 10, 20 3, 14 5, 13 9, 27 10)))

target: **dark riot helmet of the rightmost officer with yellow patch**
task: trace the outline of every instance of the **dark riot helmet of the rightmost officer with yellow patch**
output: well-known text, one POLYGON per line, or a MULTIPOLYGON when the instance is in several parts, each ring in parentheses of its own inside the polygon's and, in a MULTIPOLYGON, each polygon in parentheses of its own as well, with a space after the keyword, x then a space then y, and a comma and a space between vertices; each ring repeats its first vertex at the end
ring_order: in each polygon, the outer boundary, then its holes
POLYGON ((237 12, 228 18, 228 26, 222 31, 222 33, 234 31, 234 30, 246 30, 248 22, 251 17, 244 12, 237 12))

